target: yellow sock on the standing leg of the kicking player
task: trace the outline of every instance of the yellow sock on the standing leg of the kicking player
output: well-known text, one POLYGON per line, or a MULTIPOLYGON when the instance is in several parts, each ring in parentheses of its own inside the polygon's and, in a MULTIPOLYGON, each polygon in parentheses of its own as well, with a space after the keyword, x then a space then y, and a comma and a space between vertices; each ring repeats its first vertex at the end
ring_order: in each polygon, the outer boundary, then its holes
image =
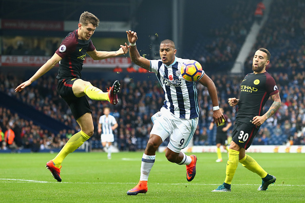
POLYGON ((58 155, 53 159, 53 162, 56 167, 60 167, 64 158, 71 153, 74 152, 75 149, 78 149, 81 145, 83 145, 84 141, 89 139, 90 137, 86 135, 83 131, 75 133, 63 147, 63 149, 58 153, 58 155))

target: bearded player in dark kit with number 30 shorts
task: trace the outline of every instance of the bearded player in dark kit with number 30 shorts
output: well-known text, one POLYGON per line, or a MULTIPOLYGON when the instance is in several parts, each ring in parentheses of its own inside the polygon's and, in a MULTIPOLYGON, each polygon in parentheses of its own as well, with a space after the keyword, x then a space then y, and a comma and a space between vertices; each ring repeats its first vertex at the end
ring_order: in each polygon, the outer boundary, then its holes
POLYGON ((251 156, 245 154, 245 150, 252 144, 260 126, 281 106, 281 99, 275 80, 266 72, 266 66, 270 63, 270 56, 270 52, 264 48, 260 48, 255 52, 252 61, 253 73, 247 74, 242 80, 239 99, 228 99, 231 107, 238 105, 238 111, 228 152, 229 159, 226 165, 225 180, 222 185, 212 192, 231 192, 231 182, 238 162, 262 178, 262 184, 258 190, 268 189, 268 186, 276 180, 275 176, 269 175, 251 156), (263 107, 270 96, 273 104, 263 114, 263 107))

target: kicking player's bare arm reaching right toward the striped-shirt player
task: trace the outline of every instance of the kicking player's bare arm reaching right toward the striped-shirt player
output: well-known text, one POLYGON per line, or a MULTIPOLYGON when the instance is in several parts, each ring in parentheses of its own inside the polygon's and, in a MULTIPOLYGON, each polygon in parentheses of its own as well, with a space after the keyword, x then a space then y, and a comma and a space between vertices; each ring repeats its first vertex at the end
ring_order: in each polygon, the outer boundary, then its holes
POLYGON ((88 51, 87 53, 93 60, 102 60, 105 58, 111 58, 115 56, 120 56, 128 52, 128 45, 125 43, 125 46, 120 45, 121 48, 118 51, 88 51))

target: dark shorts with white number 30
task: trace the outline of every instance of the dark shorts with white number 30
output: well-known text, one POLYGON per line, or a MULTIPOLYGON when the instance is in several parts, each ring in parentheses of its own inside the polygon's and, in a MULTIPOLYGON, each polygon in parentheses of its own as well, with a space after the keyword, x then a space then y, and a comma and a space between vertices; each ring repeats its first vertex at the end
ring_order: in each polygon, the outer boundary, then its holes
POLYGON ((258 130, 259 128, 254 125, 236 121, 232 132, 232 141, 234 141, 234 143, 239 147, 247 150, 252 144, 253 138, 258 130))

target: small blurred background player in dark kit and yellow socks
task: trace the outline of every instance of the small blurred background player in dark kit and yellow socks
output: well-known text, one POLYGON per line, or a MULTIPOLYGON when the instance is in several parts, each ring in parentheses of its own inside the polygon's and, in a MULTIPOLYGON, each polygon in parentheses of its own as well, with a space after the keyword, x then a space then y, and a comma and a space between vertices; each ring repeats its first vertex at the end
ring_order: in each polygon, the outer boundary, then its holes
MULTIPOLYGON (((220 111, 223 112, 223 109, 220 108, 220 111)), ((216 132, 216 147, 217 147, 217 156, 218 156, 216 162, 222 162, 220 146, 223 146, 223 149, 228 152, 228 147, 226 146, 227 130, 232 126, 231 119, 228 118, 225 114, 223 114, 223 116, 225 117, 225 119, 223 119, 222 124, 218 125, 216 132)), ((213 130, 214 123, 215 123, 214 120, 212 120, 208 128, 209 130, 213 130)))

